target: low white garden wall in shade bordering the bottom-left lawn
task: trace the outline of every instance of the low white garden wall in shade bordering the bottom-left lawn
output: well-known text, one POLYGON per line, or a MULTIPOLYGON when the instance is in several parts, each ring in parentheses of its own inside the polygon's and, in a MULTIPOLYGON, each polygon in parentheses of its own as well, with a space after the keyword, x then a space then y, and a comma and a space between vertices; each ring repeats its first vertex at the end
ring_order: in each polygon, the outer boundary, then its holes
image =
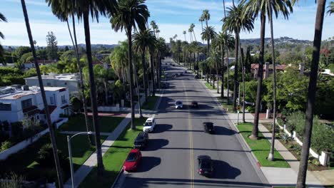
MULTIPOLYGON (((61 122, 56 123, 56 128, 58 129, 61 125, 63 125, 65 122, 67 122, 69 118, 63 118, 61 122)), ((0 160, 6 160, 7 157, 10 155, 19 152, 20 150, 23 150, 27 146, 31 145, 32 143, 36 142, 39 140, 40 137, 45 135, 46 133, 49 132, 49 128, 46 130, 43 130, 36 134, 34 137, 30 137, 22 142, 17 143, 16 145, 12 146, 8 150, 4 150, 3 152, 0 152, 0 160)))

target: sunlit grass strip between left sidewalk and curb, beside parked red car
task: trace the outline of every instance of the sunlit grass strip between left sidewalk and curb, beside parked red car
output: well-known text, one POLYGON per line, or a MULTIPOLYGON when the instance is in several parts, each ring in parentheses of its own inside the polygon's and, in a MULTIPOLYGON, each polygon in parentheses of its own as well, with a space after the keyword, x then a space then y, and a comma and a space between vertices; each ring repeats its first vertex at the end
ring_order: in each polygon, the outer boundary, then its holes
POLYGON ((126 129, 113 143, 105 155, 103 155, 103 165, 105 171, 103 177, 98 179, 96 167, 88 174, 80 187, 111 187, 120 171, 128 152, 133 148, 133 140, 141 132, 142 125, 146 118, 136 119, 137 130, 126 129), (98 181, 97 181, 98 179, 98 181))

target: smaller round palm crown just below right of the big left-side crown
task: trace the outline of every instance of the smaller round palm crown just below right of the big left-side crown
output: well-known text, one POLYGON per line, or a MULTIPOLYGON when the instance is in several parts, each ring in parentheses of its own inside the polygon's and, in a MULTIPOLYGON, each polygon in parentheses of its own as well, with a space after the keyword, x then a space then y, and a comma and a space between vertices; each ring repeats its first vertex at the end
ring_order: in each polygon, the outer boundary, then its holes
POLYGON ((148 46, 154 46, 156 36, 154 36, 154 32, 148 28, 143 31, 135 32, 132 36, 132 41, 134 50, 143 53, 148 46))

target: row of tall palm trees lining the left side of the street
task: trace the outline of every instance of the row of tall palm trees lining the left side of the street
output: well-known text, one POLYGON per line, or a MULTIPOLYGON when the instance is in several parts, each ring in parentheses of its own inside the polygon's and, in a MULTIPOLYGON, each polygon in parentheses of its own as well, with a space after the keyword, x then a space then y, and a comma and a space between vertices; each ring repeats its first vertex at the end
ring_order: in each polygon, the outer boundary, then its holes
MULTIPOLYGON (((71 41, 74 46, 74 50, 76 52, 77 63, 79 66, 79 73, 81 75, 81 95, 83 95, 84 84, 83 84, 83 76, 82 76, 82 68, 79 63, 79 52, 77 48, 77 40, 76 40, 76 28, 75 28, 75 16, 79 20, 83 20, 84 33, 85 33, 85 41, 86 41, 86 58, 88 61, 88 74, 89 74, 89 89, 90 89, 90 98, 91 98, 91 110, 93 111, 93 130, 95 132, 95 145, 96 145, 96 153, 97 153, 97 167, 98 167, 98 177, 101 177, 103 174, 103 162, 102 162, 102 154, 101 154, 101 141, 100 141, 100 130, 98 125, 98 112, 97 112, 97 103, 96 103, 96 85, 94 80, 93 73, 93 64, 92 64, 92 54, 91 54, 91 34, 89 28, 89 15, 91 15, 91 19, 96 19, 98 21, 99 16, 108 16, 110 17, 110 22, 112 28, 118 31, 126 31, 126 36, 128 38, 128 56, 126 57, 128 60, 128 76, 129 76, 129 86, 130 86, 130 101, 131 101, 131 128, 136 129, 135 126, 135 110, 134 110, 134 100, 133 100, 133 90, 134 90, 134 82, 133 75, 136 74, 136 71, 133 69, 133 51, 141 53, 142 60, 142 68, 146 71, 146 51, 150 52, 151 58, 151 80, 153 82, 153 95, 154 95, 154 80, 160 83, 160 75, 161 75, 161 48, 165 45, 163 39, 158 38, 158 26, 153 22, 151 25, 153 26, 153 31, 148 28, 148 17, 150 16, 147 6, 144 4, 145 0, 108 0, 108 1, 66 1, 66 0, 46 0, 46 3, 51 6, 52 12, 55 16, 57 16, 61 21, 66 21, 67 26, 69 28, 69 33, 71 36, 71 41), (69 26, 69 19, 73 21, 73 35, 71 33, 71 28, 69 26), (132 35, 133 30, 136 31, 134 35, 132 35), (133 46, 134 44, 134 46, 133 46), (153 71, 153 58, 156 58, 156 78, 154 77, 153 71), (160 69, 160 71, 159 71, 160 69)), ((26 4, 24 0, 21 0, 22 9, 24 12, 24 18, 26 21, 26 28, 29 34, 29 41, 31 45, 31 49, 33 51, 36 72, 39 78, 39 85, 41 88, 42 98, 44 101, 44 107, 46 109, 46 119, 49 125, 51 144, 53 145, 54 150, 54 160, 56 164, 56 172, 58 176, 59 187, 63 187, 63 178, 61 175, 61 167, 59 164, 59 157, 57 155, 57 147, 56 140, 54 135, 54 129, 51 127, 51 120, 49 115, 49 110, 46 103, 44 85, 41 80, 41 72, 39 70, 39 64, 37 63, 36 53, 34 48, 34 40, 32 38, 29 17, 26 11, 26 4)), ((136 78, 136 76, 135 76, 136 78)), ((147 90, 146 87, 148 85, 148 78, 146 72, 143 75, 143 85, 145 88, 145 97, 147 98, 147 90)), ((83 99, 83 108, 86 117, 86 128, 87 131, 90 130, 88 125, 88 118, 86 114, 86 101, 83 99)), ((88 137, 89 139, 89 137, 88 137)))

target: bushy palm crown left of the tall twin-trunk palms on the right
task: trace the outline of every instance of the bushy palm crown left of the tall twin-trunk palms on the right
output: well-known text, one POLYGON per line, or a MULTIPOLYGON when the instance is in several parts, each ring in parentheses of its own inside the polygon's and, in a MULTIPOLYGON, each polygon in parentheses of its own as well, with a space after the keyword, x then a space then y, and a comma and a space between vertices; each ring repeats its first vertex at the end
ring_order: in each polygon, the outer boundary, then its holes
POLYGON ((245 6, 241 3, 238 6, 228 7, 227 16, 222 20, 223 31, 240 33, 240 31, 252 31, 254 19, 244 11, 245 6))

